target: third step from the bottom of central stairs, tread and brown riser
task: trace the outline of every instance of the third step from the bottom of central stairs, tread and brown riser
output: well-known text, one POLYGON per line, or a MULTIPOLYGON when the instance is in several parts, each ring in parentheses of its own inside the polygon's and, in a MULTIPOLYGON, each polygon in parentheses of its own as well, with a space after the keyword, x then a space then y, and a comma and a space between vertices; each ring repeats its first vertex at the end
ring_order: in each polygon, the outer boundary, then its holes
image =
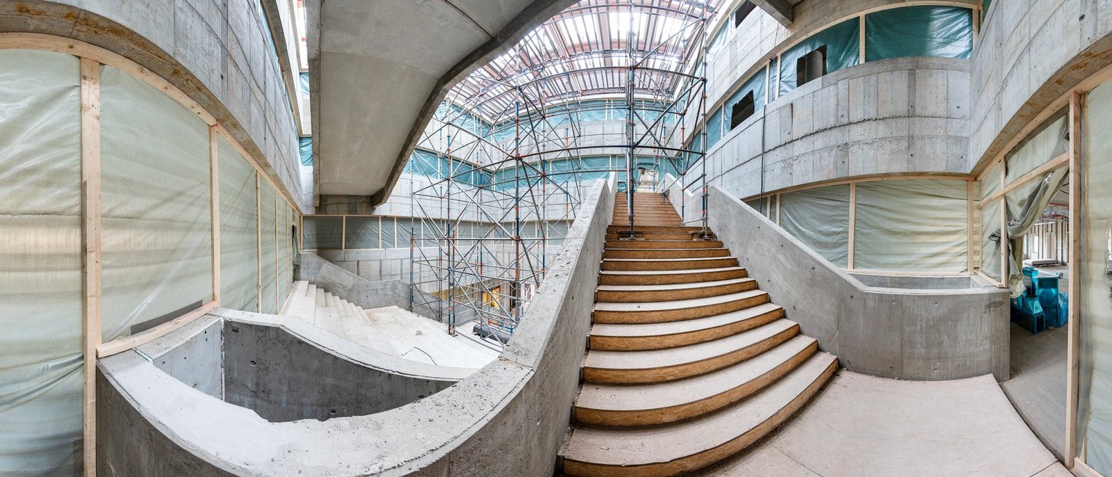
POLYGON ((592 349, 583 359, 583 379, 596 384, 638 385, 689 378, 753 358, 798 334, 798 325, 781 318, 737 335, 676 348, 592 349))

